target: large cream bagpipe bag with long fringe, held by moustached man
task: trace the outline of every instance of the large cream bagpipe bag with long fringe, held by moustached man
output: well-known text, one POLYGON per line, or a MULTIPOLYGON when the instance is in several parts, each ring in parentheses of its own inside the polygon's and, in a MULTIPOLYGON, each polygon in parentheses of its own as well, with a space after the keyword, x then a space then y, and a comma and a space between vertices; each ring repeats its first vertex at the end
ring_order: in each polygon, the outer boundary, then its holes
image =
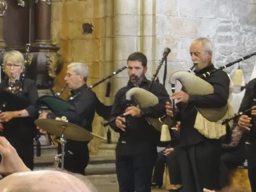
MULTIPOLYGON (((180 81, 189 95, 207 95, 214 93, 210 83, 186 71, 175 72, 170 76, 169 83, 180 81), (196 86, 196 87, 195 87, 196 86), (200 89, 199 89, 200 88, 200 89)), ((198 110, 194 127, 205 137, 219 139, 226 134, 226 126, 221 120, 233 116, 233 109, 229 102, 222 108, 196 108, 198 110)), ((232 123, 232 122, 229 122, 232 123)))

